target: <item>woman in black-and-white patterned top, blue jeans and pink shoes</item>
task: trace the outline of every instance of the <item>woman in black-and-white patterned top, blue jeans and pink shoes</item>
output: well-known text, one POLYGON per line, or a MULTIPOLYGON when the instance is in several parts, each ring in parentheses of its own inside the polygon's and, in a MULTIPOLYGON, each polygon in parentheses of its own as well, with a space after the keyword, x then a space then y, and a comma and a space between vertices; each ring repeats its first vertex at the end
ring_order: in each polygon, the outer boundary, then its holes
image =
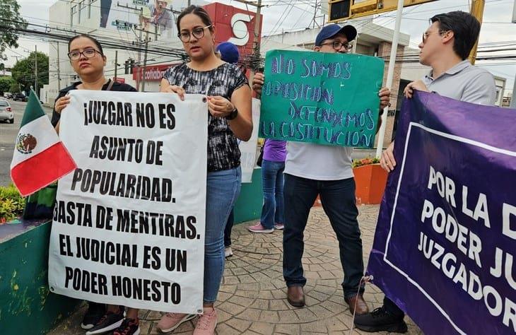
MULTIPOLYGON (((208 175, 206 180, 206 233, 204 237, 204 313, 194 334, 213 334, 217 323, 213 302, 224 270, 224 227, 240 193, 240 151, 237 139, 251 137, 251 90, 235 64, 215 52, 215 28, 204 8, 189 6, 177 17, 184 50, 190 61, 168 69, 161 92, 200 93, 208 97, 208 175)), ((172 331, 192 315, 167 313, 161 331, 172 331)))

